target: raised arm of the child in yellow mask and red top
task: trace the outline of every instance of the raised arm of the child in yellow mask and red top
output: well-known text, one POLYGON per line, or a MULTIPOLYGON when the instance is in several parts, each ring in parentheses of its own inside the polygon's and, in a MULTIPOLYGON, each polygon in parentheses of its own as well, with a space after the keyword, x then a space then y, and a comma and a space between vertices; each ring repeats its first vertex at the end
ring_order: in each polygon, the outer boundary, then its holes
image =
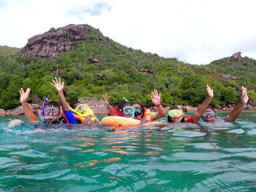
POLYGON ((206 85, 206 91, 207 91, 208 97, 206 98, 206 100, 204 100, 202 105, 198 107, 197 112, 193 114, 192 122, 198 122, 202 114, 204 113, 204 111, 207 109, 207 107, 211 103, 211 99, 213 98, 213 90, 208 85, 206 85))

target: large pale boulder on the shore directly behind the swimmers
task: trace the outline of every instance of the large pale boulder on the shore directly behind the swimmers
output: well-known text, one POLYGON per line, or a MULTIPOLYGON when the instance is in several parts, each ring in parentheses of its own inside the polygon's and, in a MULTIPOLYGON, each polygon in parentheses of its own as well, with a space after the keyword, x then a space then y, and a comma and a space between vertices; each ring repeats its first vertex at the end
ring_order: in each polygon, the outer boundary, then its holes
POLYGON ((78 101, 87 103, 95 114, 105 114, 108 110, 104 107, 104 103, 101 100, 92 97, 80 98, 78 101))

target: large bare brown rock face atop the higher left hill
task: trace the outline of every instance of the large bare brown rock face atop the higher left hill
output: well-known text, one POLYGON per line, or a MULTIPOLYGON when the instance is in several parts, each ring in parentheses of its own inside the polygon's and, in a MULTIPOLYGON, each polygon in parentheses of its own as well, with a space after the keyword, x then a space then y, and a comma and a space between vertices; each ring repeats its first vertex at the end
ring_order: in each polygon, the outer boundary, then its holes
MULTIPOLYGON (((64 52, 72 50, 72 46, 76 41, 91 41, 91 37, 86 37, 88 33, 91 33, 92 27, 83 25, 70 24, 65 27, 51 28, 50 31, 42 34, 36 35, 28 39, 28 43, 18 50, 16 54, 22 54, 22 57, 54 57, 58 54, 63 54, 64 52)), ((95 30, 95 33, 100 34, 100 31, 95 30)), ((99 40, 107 44, 108 41, 103 37, 99 36, 99 40)), ((15 54, 14 54, 15 55, 15 54)), ((11 55, 13 57, 14 55, 11 55)))

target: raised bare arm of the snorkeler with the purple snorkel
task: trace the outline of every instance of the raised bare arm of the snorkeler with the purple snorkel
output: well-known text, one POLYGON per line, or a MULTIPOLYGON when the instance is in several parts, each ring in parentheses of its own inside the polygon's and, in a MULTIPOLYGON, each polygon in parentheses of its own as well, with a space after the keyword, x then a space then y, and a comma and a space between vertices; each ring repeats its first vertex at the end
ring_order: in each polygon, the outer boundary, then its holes
POLYGON ((22 104, 22 107, 23 107, 24 113, 26 115, 26 118, 28 119, 29 122, 32 122, 32 123, 39 122, 37 120, 35 114, 33 114, 33 112, 31 111, 31 109, 28 105, 28 96, 30 94, 30 89, 28 88, 26 90, 26 92, 24 92, 24 90, 21 88, 19 92, 20 92, 20 102, 22 104))

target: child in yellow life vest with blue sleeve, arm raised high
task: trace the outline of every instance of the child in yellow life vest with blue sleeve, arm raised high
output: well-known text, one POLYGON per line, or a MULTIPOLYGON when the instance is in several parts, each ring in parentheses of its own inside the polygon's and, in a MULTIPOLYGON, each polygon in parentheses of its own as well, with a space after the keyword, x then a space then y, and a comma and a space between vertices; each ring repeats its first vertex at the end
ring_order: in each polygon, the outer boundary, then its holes
POLYGON ((75 101, 70 103, 69 107, 63 94, 64 82, 61 83, 60 78, 55 78, 55 80, 52 79, 51 84, 56 88, 58 92, 62 109, 64 111, 67 121, 70 124, 100 124, 100 121, 96 118, 95 114, 87 104, 75 101))

